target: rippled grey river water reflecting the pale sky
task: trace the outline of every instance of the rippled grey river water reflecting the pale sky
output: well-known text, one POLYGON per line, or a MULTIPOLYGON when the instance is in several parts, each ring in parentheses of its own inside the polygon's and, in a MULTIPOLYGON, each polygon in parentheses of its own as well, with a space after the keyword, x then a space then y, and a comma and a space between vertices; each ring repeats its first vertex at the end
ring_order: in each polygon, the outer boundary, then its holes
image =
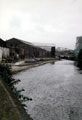
POLYGON ((58 61, 20 72, 33 120, 82 120, 82 74, 72 61, 58 61))

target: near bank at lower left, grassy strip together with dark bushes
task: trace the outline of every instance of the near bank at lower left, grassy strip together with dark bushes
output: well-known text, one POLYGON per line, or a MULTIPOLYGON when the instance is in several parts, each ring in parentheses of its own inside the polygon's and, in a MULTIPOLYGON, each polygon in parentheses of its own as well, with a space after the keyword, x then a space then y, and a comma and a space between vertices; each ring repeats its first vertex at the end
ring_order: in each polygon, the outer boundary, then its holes
POLYGON ((13 78, 10 66, 0 63, 0 120, 32 120, 24 109, 26 97, 16 90, 18 81, 13 78))

